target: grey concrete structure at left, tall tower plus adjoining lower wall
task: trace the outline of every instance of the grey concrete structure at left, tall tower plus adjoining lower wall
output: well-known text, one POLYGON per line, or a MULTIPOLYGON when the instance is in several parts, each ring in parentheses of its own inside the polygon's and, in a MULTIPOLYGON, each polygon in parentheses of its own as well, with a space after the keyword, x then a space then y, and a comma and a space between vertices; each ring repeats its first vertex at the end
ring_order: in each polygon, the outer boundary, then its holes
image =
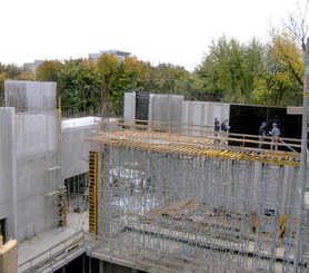
POLYGON ((54 82, 6 81, 4 87, 8 107, 0 108, 0 231, 4 241, 14 237, 22 242, 57 227, 57 189, 64 179, 88 172, 83 139, 93 118, 77 125, 63 121, 61 136, 54 82))

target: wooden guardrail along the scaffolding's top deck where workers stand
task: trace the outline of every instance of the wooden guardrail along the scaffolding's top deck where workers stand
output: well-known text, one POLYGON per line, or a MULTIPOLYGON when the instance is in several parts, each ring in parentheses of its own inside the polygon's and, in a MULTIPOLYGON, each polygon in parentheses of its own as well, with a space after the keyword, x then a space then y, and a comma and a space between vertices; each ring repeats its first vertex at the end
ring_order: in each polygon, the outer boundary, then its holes
MULTIPOLYGON (((196 124, 180 124, 180 123, 167 123, 167 121, 153 121, 153 120, 140 120, 140 119, 107 119, 99 121, 99 127, 94 135, 100 133, 118 134, 128 131, 133 136, 134 133, 143 133, 144 137, 149 139, 166 139, 173 142, 188 142, 189 138, 207 138, 208 144, 229 144, 230 146, 237 146, 242 148, 259 148, 262 147, 269 149, 271 143, 275 150, 286 150, 292 153, 300 153, 301 139, 279 137, 275 140, 271 136, 247 135, 237 133, 223 133, 213 131, 213 126, 203 126, 196 124), (189 137, 185 139, 183 137, 189 137)), ((193 142, 198 143, 198 142, 193 142)), ((202 143, 201 143, 202 144, 202 143)))

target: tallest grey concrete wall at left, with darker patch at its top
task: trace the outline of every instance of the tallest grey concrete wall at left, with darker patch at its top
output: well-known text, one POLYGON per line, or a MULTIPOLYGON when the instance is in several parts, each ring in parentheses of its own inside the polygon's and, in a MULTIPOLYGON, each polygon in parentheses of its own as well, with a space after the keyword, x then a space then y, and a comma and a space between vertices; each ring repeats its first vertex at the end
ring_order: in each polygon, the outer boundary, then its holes
POLYGON ((4 88, 6 105, 17 111, 11 119, 16 137, 10 146, 16 149, 16 165, 11 166, 18 204, 14 217, 19 221, 16 237, 22 241, 54 227, 56 223, 56 194, 47 197, 59 183, 57 174, 48 172, 59 160, 56 84, 6 81, 4 88))

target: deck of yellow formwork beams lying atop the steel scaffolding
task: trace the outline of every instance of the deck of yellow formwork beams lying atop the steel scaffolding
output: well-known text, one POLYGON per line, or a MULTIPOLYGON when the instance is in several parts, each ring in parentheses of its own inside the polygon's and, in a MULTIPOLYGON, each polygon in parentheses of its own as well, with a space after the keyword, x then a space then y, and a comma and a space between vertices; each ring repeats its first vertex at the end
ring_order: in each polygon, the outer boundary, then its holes
POLYGON ((87 140, 112 145, 117 147, 131 147, 138 149, 148 149, 159 153, 183 154, 219 157, 247 162, 259 162, 275 165, 300 166, 300 154, 287 152, 270 152, 250 148, 232 147, 232 146, 212 146, 212 142, 208 146, 201 144, 208 143, 209 139, 201 137, 177 136, 172 142, 172 135, 156 133, 149 137, 149 133, 134 131, 128 135, 126 131, 117 134, 98 134, 87 140), (132 137, 133 134, 133 137, 132 137), (158 138, 156 138, 158 137, 158 138), (116 140, 117 139, 117 140, 116 140), (168 140, 165 140, 168 139, 168 140), (158 140, 158 142, 154 142, 158 140))

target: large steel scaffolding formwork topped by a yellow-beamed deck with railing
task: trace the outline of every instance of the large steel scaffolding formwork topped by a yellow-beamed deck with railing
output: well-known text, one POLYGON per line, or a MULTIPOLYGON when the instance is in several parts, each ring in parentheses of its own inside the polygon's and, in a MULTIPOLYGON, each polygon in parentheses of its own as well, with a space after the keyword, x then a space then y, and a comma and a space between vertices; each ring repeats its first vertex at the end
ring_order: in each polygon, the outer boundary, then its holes
POLYGON ((144 124, 108 121, 87 139, 93 253, 147 272, 306 272, 299 140, 268 150, 258 136, 144 124))

